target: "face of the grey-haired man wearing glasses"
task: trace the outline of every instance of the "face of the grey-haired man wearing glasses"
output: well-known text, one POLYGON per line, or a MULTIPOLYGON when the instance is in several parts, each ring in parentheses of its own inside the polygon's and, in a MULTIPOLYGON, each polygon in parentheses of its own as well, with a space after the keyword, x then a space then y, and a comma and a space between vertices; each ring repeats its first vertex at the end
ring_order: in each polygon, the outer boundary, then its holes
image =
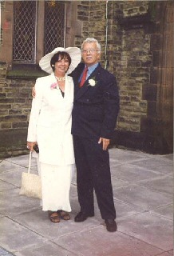
POLYGON ((96 42, 85 42, 81 51, 81 56, 87 66, 93 66, 99 62, 101 53, 97 49, 96 42))

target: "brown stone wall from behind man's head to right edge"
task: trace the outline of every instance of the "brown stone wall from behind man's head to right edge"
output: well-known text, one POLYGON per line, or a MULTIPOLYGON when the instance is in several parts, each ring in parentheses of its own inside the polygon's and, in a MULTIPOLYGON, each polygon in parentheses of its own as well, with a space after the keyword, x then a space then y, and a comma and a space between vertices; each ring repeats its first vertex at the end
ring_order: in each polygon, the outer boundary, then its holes
MULTIPOLYGON (((119 84, 121 111, 114 145, 153 154, 172 152, 173 104, 171 99, 164 103, 166 110, 163 110, 163 118, 168 111, 170 113, 164 125, 157 114, 157 106, 164 100, 159 96, 159 87, 163 86, 157 85, 161 70, 156 58, 163 51, 161 40, 166 33, 171 34, 172 40, 173 8, 171 1, 83 1, 78 5, 77 18, 82 23, 82 34, 76 37, 75 43, 81 46, 84 38, 97 38, 103 50, 101 63, 116 75, 119 84), (164 12, 165 8, 169 8, 172 14, 164 12), (165 22, 169 16, 170 26, 165 22), (161 30, 163 26, 169 26, 170 32, 161 30)), ((165 53, 170 50, 167 49, 165 53)), ((171 70, 168 67, 168 75, 172 85, 173 65, 165 53, 163 58, 169 61, 171 70)), ((171 50, 169 55, 172 56, 171 50)))

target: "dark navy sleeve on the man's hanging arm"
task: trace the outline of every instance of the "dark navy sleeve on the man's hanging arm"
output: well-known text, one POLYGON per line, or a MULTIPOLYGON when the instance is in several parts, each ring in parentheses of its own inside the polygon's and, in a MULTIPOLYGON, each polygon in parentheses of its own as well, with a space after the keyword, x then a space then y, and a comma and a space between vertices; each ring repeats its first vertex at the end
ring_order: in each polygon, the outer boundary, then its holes
POLYGON ((116 78, 111 74, 103 84, 104 118, 101 127, 102 138, 112 138, 120 110, 120 98, 116 78))

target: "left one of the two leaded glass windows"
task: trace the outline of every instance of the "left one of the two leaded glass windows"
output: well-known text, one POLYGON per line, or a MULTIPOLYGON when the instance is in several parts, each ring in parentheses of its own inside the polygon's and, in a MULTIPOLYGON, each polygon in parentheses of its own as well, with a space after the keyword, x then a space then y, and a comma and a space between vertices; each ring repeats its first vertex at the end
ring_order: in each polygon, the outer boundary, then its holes
POLYGON ((14 1, 13 62, 34 63, 37 1, 14 1))

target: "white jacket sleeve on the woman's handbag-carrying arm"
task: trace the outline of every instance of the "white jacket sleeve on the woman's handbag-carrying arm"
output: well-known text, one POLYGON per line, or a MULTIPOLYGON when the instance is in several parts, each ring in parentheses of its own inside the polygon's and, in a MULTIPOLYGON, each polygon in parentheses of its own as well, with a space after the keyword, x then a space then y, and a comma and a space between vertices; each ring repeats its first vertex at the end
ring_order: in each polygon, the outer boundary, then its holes
POLYGON ((39 83, 39 78, 35 83, 35 90, 36 96, 33 98, 31 112, 30 112, 30 119, 29 119, 29 126, 28 126, 28 135, 27 135, 27 142, 37 142, 37 123, 38 117, 42 108, 42 85, 39 83))

